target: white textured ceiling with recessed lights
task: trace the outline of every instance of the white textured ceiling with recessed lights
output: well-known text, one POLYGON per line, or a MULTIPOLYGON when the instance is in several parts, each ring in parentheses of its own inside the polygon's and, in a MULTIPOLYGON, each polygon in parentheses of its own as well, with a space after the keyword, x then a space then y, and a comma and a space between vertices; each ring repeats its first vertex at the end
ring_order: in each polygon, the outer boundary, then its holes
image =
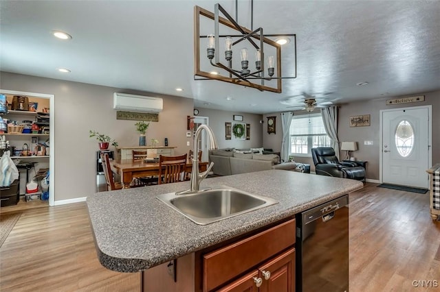
MULTIPOLYGON (((194 6, 213 11, 217 2, 235 16, 235 1, 1 1, 0 69, 255 113, 289 110, 281 101, 298 105, 304 95, 340 104, 440 90, 440 1, 255 0, 254 28, 297 36, 298 77, 280 94, 194 80, 194 6)), ((250 27, 250 1, 238 7, 250 27)), ((282 49, 283 71, 290 51, 282 49)))

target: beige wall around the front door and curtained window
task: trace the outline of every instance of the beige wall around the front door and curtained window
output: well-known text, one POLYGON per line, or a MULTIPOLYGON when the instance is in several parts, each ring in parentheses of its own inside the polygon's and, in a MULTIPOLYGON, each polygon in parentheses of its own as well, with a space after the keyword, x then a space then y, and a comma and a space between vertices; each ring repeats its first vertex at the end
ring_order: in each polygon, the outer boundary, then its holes
MULTIPOLYGON (((436 114, 440 111, 440 91, 432 93, 418 93, 414 95, 401 96, 409 97, 415 95, 425 95, 425 101, 412 104, 400 104, 396 106, 387 106, 386 99, 359 101, 351 104, 342 104, 338 112, 338 138, 339 141, 357 141, 358 151, 353 156, 358 160, 368 161, 366 178, 371 180, 379 180, 379 156, 380 156, 380 110, 391 108, 407 108, 411 106, 432 105, 432 164, 440 162, 440 115, 436 114), (349 117, 362 114, 370 114, 371 125, 369 127, 350 127, 349 117), (372 146, 364 145, 364 141, 373 141, 372 146)), ((393 97, 398 98, 398 97, 393 97)), ((391 99, 387 98, 387 99, 391 99)), ((296 112, 295 114, 303 114, 296 112)), ((281 127, 281 114, 264 114, 264 129, 267 127, 267 117, 276 116, 276 135, 267 134, 263 130, 263 146, 265 148, 274 148, 281 150, 281 138, 283 130, 281 127)), ((340 157, 344 157, 344 153, 340 153, 340 157)), ((307 163, 311 165, 311 171, 314 171, 314 163, 311 157, 295 157, 296 162, 307 163)))

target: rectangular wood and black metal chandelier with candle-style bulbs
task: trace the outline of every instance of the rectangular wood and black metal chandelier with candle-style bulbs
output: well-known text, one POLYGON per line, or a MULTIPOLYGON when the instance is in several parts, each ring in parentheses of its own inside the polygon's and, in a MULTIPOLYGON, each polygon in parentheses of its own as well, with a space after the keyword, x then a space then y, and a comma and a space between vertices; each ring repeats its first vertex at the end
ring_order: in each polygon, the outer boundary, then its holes
MULTIPOLYGON (((195 80, 221 80, 241 86, 281 93, 283 79, 296 78, 296 34, 263 34, 263 28, 253 29, 253 0, 251 0, 251 29, 236 22, 238 19, 238 0, 235 1, 236 18, 233 19, 219 3, 215 4, 214 13, 195 6, 195 80), (220 16, 220 13, 224 17, 220 16), (203 16, 203 17, 202 17, 203 16), (202 24, 202 21, 203 24, 202 24), (214 34, 201 35, 201 25, 214 21, 214 34), (292 38, 294 64, 289 64, 292 72, 282 76, 281 45, 277 38, 292 38), (273 39, 274 40, 273 40, 273 39), (201 41, 205 40, 206 41, 201 41), (221 42, 224 44, 224 57, 221 57, 221 42), (201 46, 206 44, 206 56, 201 55, 201 46), (254 52, 254 64, 250 56, 254 52), (233 58, 239 52, 240 62, 233 58), (265 53, 267 58, 265 59, 265 53), (267 65, 267 70, 265 68, 267 65), (203 66, 203 68, 201 68, 203 66), (212 71, 212 66, 215 71, 212 71), (198 77, 197 77, 198 76, 198 77)), ((203 27, 206 30, 206 27, 203 27)), ((212 28, 211 28, 212 29, 212 28)), ((223 45, 222 44, 222 45, 223 45)))

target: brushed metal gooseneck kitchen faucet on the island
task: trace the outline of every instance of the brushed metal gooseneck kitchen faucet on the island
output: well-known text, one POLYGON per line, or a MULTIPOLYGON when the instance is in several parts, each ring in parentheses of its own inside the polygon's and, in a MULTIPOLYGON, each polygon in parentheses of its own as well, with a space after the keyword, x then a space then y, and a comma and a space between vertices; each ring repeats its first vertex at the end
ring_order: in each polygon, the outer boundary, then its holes
POLYGON ((203 171, 202 173, 199 173, 199 138, 201 136, 201 131, 205 129, 206 134, 208 134, 209 138, 209 149, 217 149, 217 140, 215 139, 214 133, 212 132, 211 128, 208 127, 208 125, 199 125, 197 127, 197 131, 194 135, 194 156, 192 157, 192 170, 191 170, 191 178, 190 178, 190 184, 191 189, 187 191, 181 191, 177 192, 176 195, 183 195, 187 193, 197 193, 200 188, 200 182, 206 178, 206 175, 211 171, 212 167, 214 166, 214 162, 211 162, 208 169, 206 171, 203 171))

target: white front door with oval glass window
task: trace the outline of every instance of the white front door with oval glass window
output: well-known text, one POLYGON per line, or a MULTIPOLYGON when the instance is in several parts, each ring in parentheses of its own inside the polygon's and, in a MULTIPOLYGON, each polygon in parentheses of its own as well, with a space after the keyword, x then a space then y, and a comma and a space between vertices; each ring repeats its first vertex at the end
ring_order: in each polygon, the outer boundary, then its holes
POLYGON ((382 182, 428 188, 430 108, 382 110, 382 182))

